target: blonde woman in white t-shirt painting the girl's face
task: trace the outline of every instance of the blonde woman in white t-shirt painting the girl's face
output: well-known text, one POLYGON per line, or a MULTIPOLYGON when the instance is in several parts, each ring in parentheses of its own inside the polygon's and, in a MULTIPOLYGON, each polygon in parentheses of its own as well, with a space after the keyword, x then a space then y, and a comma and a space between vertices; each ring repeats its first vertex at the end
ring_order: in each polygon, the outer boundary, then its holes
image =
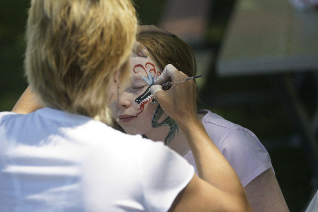
POLYGON ((136 23, 129 0, 31 1, 25 72, 45 107, 0 113, 0 211, 251 211, 237 175, 187 104, 193 82, 157 100, 166 108, 186 88, 177 98, 183 109, 165 112, 193 151, 215 153, 202 161, 203 179, 161 143, 98 121, 126 89, 136 23))

